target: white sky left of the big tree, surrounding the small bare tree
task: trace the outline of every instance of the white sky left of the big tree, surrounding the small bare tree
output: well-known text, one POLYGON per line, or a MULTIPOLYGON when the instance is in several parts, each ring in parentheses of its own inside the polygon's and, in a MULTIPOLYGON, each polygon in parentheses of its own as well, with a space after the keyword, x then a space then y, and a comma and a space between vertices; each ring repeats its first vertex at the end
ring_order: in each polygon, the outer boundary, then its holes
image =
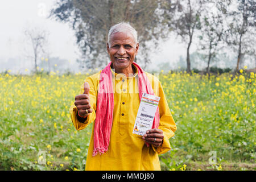
POLYGON ((52 0, 5 0, 0 1, 0 57, 16 57, 23 54, 23 30, 26 27, 40 27, 49 32, 49 49, 52 56, 75 59, 76 38, 68 24, 59 23, 43 16, 53 5, 52 0))

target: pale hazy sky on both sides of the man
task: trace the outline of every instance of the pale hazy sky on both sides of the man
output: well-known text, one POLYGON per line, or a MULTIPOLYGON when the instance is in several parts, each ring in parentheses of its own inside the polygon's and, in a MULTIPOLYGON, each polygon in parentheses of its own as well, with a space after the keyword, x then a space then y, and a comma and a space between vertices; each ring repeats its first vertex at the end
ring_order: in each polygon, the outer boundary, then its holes
MULTIPOLYGON (((55 2, 53 0, 0 1, 0 64, 11 57, 19 57, 20 67, 32 64, 31 60, 24 60, 23 30, 26 27, 40 27, 47 30, 51 56, 75 63, 79 57, 79 49, 76 46, 74 31, 69 24, 46 17, 55 2)), ((152 53, 151 57, 154 64, 160 61, 174 62, 179 59, 179 55, 185 55, 185 46, 179 44, 175 38, 171 38, 170 41, 161 44, 159 51, 152 53)))

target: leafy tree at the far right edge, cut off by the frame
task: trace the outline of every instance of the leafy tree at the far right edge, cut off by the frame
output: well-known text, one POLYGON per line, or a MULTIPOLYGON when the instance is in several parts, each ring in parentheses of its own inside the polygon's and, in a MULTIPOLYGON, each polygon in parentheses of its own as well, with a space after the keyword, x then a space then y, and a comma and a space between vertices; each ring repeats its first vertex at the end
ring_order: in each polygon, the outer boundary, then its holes
POLYGON ((236 72, 238 72, 244 55, 255 56, 256 2, 238 0, 233 3, 221 2, 218 6, 224 12, 229 27, 225 32, 225 42, 237 51, 236 72))

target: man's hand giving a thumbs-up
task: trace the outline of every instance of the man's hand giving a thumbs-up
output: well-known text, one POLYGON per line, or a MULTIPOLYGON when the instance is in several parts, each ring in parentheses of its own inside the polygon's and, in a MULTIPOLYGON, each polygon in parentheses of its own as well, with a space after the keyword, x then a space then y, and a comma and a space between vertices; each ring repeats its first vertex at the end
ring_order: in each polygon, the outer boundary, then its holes
POLYGON ((75 105, 81 117, 86 117, 92 113, 92 109, 90 109, 89 90, 90 86, 88 82, 84 82, 84 93, 75 97, 75 105))

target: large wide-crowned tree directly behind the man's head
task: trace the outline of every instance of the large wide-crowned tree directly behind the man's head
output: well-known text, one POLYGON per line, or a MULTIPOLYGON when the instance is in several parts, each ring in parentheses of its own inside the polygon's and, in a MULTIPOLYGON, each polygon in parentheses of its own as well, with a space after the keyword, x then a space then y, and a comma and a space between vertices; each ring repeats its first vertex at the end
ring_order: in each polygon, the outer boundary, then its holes
POLYGON ((153 42, 157 46, 159 38, 165 37, 158 6, 158 1, 147 0, 59 0, 49 17, 72 25, 82 54, 80 63, 86 63, 87 68, 106 64, 110 27, 121 21, 130 22, 138 32, 140 55, 143 54, 139 61, 146 64, 150 62, 150 48, 146 43, 153 42))

